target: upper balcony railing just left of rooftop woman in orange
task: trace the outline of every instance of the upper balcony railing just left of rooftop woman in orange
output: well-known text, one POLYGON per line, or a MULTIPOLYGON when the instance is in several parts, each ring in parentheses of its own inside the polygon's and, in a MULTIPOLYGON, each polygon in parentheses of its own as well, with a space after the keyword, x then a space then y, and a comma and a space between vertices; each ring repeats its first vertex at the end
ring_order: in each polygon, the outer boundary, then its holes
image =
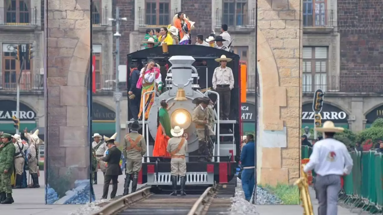
MULTIPOLYGON (((179 11, 176 10, 159 10, 159 13, 155 13, 157 10, 148 11, 138 8, 138 26, 139 27, 162 27, 172 24, 173 17, 179 11)), ((193 21, 193 20, 192 20, 193 21)))

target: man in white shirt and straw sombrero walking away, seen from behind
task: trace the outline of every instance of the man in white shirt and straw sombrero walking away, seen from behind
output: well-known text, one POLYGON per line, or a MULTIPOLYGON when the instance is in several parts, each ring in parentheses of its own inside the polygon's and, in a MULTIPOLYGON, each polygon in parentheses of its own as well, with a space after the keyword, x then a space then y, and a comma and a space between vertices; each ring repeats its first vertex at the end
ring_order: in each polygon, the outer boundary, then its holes
POLYGON ((351 173, 353 162, 344 143, 334 139, 335 133, 343 132, 343 128, 335 127, 331 121, 323 123, 316 129, 323 132, 324 139, 314 144, 310 161, 303 171, 315 170, 315 182, 318 194, 318 215, 336 215, 338 212, 338 194, 340 177, 351 173))

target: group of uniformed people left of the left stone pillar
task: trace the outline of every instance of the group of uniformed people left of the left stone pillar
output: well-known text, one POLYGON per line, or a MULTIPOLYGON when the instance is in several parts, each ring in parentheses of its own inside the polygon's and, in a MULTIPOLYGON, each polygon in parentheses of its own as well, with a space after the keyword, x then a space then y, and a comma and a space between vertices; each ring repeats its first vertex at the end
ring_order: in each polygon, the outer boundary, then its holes
POLYGON ((0 134, 0 204, 12 204, 12 189, 39 186, 39 130, 0 134), (26 170, 32 179, 28 185, 26 170))

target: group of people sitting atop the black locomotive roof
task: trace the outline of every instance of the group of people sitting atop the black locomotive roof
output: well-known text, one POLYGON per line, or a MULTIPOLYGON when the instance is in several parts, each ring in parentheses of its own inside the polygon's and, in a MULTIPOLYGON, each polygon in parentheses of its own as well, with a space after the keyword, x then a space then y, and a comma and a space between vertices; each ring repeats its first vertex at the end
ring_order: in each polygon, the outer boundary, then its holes
MULTIPOLYGON (((187 45, 191 44, 190 30, 194 22, 183 13, 178 12, 173 17, 173 23, 169 26, 164 26, 155 29, 146 29, 144 37, 144 48, 162 46, 163 43, 169 45, 187 45)), ((231 46, 231 36, 228 33, 228 25, 222 24, 221 34, 216 36, 213 32, 204 40, 202 34, 196 35, 195 45, 210 46, 217 49, 229 50, 231 46)))

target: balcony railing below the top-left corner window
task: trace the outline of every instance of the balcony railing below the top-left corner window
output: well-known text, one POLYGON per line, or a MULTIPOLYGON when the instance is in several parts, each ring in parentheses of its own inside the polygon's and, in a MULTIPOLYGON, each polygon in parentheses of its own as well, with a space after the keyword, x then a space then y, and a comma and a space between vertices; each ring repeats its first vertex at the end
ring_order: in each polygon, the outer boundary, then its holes
POLYGON ((40 16, 34 8, 0 8, 0 25, 6 26, 36 26, 40 16))

